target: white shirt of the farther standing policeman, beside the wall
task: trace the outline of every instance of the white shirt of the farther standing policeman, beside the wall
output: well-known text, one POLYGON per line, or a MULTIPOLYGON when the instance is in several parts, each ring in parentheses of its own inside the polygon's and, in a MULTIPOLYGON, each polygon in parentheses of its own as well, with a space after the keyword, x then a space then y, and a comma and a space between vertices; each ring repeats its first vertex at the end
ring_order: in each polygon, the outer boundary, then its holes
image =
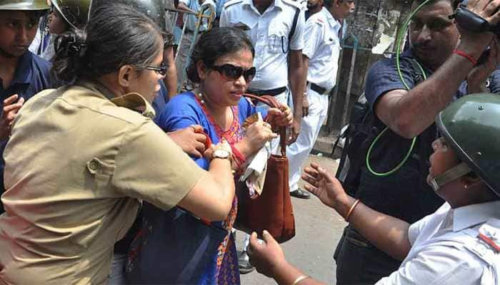
POLYGON ((307 81, 334 88, 339 68, 341 24, 323 7, 306 21, 307 41, 302 53, 309 58, 307 81))

